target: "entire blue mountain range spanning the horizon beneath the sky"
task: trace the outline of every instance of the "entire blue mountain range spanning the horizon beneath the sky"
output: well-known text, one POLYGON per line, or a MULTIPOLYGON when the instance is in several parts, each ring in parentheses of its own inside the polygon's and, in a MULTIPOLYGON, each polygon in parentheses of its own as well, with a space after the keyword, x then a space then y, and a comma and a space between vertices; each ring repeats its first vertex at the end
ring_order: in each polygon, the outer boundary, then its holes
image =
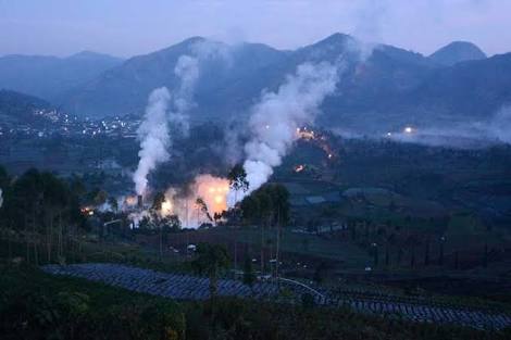
MULTIPOLYGON (((184 54, 202 55, 192 122, 244 118, 262 91, 277 89, 298 65, 322 61, 340 63, 344 70, 337 91, 326 98, 317 119, 328 127, 379 134, 401 129, 404 124, 478 122, 511 103, 511 54, 486 58, 470 42, 452 42, 424 56, 388 45, 365 46, 344 34, 291 51, 194 37, 124 62, 110 60, 111 67, 84 81, 75 77, 70 81, 73 86, 62 80, 63 70, 67 70, 63 66, 57 67, 55 76, 40 74, 40 66, 35 71, 38 76, 27 71, 11 83, 34 83, 39 88, 47 86, 48 91, 54 87, 52 103, 77 115, 137 115, 144 112, 151 90, 161 86, 176 89, 174 68, 184 54), (25 81, 25 76, 40 83, 25 81)), ((84 74, 87 62, 97 65, 109 56, 83 52, 65 60, 79 63, 84 74)), ((1 75, 0 67, 0 86, 7 81, 1 75)))

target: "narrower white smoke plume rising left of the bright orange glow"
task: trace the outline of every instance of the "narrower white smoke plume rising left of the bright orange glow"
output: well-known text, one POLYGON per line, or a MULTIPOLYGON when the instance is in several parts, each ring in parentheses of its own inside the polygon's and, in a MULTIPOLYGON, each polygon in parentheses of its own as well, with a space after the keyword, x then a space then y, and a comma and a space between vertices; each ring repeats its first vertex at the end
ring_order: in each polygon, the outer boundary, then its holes
POLYGON ((166 111, 171 93, 165 87, 155 89, 149 96, 144 122, 137 130, 140 140, 138 167, 133 175, 135 191, 145 194, 147 190, 147 176, 158 164, 166 162, 170 158, 167 148, 171 143, 166 111))

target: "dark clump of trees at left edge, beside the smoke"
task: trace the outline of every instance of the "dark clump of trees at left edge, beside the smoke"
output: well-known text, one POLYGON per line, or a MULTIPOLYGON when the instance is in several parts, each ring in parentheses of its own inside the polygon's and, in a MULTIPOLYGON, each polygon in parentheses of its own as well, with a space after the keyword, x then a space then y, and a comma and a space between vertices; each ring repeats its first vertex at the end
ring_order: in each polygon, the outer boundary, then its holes
POLYGON ((59 261, 78 247, 79 230, 86 227, 80 212, 85 187, 78 177, 64 180, 35 168, 10 177, 0 166, 0 231, 9 256, 20 242, 25 243, 26 260, 35 264, 59 261))

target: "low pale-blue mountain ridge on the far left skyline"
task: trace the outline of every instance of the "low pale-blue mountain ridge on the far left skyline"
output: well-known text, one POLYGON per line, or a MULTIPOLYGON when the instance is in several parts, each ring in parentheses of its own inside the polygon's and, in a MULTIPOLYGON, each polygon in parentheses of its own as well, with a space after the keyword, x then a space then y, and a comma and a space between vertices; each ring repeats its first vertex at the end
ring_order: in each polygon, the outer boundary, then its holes
POLYGON ((59 95, 122 63, 89 51, 67 58, 11 54, 0 58, 0 88, 58 101, 59 95))

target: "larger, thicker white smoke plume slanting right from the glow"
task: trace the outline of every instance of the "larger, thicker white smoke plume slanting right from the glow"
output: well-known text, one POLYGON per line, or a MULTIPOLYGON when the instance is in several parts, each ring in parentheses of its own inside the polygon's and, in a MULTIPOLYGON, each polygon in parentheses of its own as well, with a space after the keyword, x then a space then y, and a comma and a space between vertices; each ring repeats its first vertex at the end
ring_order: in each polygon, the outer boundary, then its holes
MULTIPOLYGON (((249 122, 252 137, 245 144, 244 168, 250 185, 245 196, 267 181, 296 140, 297 128, 312 123, 325 97, 335 91, 337 80, 336 65, 304 63, 276 92, 263 93, 252 108, 249 122)), ((242 196, 238 194, 238 200, 242 196)), ((230 192, 229 203, 233 202, 230 192)))

